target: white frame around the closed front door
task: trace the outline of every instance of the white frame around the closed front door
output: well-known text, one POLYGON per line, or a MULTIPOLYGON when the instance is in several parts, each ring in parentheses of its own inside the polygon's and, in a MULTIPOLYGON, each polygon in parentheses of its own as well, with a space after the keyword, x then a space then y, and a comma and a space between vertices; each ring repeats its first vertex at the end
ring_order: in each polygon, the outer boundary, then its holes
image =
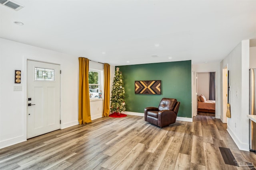
MULTIPOLYGON (((58 63, 53 63, 50 61, 40 61, 38 60, 37 57, 32 57, 32 56, 25 56, 23 55, 23 68, 24 70, 22 71, 22 82, 23 82, 23 135, 26 137, 27 139, 27 61, 37 61, 37 62, 42 62, 42 63, 49 63, 49 64, 57 64, 60 65, 60 69, 61 69, 61 64, 58 63)), ((60 74, 60 85, 61 85, 61 74, 60 74)), ((61 86, 60 86, 60 98, 61 98, 61 86)), ((60 107, 61 107, 61 100, 60 100, 60 107)), ((61 108, 60 108, 60 120, 61 120, 61 108)), ((61 124, 60 124, 60 128, 61 128, 61 124)), ((26 141, 26 140, 25 140, 26 141)))

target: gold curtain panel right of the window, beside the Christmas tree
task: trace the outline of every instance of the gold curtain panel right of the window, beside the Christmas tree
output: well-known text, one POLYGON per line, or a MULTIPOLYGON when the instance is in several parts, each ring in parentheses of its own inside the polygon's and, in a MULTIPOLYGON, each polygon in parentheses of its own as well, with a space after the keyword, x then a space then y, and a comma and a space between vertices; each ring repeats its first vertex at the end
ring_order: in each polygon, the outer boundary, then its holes
POLYGON ((104 64, 104 107, 102 117, 108 117, 110 111, 110 64, 104 64))

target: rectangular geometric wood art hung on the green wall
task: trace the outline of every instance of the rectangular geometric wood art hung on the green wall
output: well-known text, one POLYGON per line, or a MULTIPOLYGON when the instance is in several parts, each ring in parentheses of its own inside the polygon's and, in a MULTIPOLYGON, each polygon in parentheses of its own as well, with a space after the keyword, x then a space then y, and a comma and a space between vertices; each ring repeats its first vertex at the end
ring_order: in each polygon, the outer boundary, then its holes
POLYGON ((135 81, 135 94, 161 94, 161 80, 135 81))

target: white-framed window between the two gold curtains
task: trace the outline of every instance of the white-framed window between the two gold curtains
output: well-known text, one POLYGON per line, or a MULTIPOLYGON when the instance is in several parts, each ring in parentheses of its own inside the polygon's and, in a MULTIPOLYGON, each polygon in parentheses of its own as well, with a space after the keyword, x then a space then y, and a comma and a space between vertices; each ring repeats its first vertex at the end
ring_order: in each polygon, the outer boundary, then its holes
POLYGON ((89 70, 90 99, 102 98, 102 71, 89 70))

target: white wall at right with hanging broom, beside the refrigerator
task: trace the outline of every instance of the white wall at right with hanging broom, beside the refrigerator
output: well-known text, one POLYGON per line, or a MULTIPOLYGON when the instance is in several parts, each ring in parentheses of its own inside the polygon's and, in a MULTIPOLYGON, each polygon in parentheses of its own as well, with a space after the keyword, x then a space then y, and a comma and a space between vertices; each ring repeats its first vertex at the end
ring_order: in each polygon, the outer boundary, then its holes
MULTIPOLYGON (((230 71, 230 110, 227 130, 240 150, 249 150, 249 40, 238 44, 220 63, 230 71)), ((222 75, 222 74, 221 74, 222 75)), ((222 100, 222 99, 221 99, 222 100)))

